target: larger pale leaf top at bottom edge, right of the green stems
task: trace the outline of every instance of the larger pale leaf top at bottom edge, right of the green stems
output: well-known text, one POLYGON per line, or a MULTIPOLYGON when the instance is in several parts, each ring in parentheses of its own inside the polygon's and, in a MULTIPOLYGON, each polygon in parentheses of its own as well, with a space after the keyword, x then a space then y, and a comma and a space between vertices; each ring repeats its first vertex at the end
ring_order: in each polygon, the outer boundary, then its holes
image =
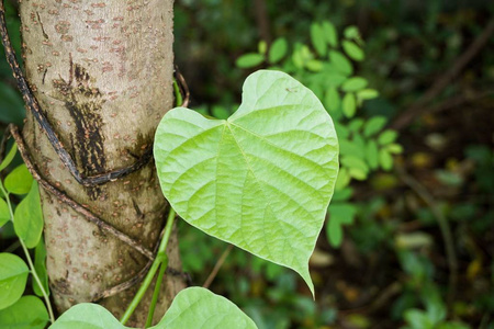
POLYGON ((165 317, 153 328, 255 329, 257 327, 225 297, 202 287, 189 287, 178 293, 165 317))

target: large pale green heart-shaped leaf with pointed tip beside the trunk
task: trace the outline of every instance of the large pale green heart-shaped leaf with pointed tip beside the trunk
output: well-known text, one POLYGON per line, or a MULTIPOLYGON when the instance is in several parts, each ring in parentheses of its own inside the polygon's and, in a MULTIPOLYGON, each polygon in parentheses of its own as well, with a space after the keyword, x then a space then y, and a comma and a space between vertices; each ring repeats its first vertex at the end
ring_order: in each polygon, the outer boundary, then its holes
POLYGON ((295 270, 313 291, 308 258, 333 195, 338 141, 311 90, 283 72, 257 71, 226 121, 169 111, 155 158, 162 192, 183 219, 295 270))

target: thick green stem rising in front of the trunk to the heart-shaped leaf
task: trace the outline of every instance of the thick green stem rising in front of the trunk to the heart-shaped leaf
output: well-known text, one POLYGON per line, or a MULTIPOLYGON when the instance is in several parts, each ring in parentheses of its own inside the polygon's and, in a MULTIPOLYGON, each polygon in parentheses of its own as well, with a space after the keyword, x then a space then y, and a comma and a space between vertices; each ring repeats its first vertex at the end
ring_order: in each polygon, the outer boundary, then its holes
MULTIPOLYGON (((165 226, 165 234, 162 236, 161 242, 159 243, 158 252, 156 254, 155 261, 153 262, 149 272, 147 272, 146 277, 144 279, 143 283, 141 284, 139 290, 134 296, 134 299, 132 299, 131 304, 128 305, 127 309, 125 310, 124 315, 120 319, 120 322, 122 325, 125 325, 128 319, 131 318, 134 310, 137 308, 137 305, 139 305, 141 300, 144 297, 144 294, 146 293, 147 288, 153 282, 153 279, 155 277, 156 272, 158 271, 159 266, 162 264, 161 268, 164 268, 162 271, 165 271, 168 266, 168 259, 166 249, 168 246, 168 240, 170 239, 171 229, 173 228, 173 219, 175 219, 175 209, 170 207, 170 213, 168 214, 167 225, 165 226)), ((153 296, 154 299, 154 296, 153 296)), ((156 304, 153 305, 153 313, 154 308, 156 307, 156 304)), ((150 310, 149 310, 150 313, 150 310)))

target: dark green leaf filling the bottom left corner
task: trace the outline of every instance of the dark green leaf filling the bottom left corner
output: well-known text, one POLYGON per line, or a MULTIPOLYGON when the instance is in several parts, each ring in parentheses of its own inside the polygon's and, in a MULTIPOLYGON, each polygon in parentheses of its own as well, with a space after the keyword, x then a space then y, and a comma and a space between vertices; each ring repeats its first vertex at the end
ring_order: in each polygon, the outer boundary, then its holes
POLYGON ((43 329, 48 320, 45 304, 36 296, 21 297, 0 310, 0 328, 3 329, 43 329))

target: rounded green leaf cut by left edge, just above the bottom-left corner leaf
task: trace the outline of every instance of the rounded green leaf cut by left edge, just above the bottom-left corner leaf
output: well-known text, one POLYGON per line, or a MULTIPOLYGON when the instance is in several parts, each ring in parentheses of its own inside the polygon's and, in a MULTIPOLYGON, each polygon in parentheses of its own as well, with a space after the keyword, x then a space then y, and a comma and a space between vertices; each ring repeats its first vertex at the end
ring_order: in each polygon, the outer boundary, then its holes
POLYGON ((30 270, 24 261, 12 253, 0 253, 0 309, 21 298, 30 270))

